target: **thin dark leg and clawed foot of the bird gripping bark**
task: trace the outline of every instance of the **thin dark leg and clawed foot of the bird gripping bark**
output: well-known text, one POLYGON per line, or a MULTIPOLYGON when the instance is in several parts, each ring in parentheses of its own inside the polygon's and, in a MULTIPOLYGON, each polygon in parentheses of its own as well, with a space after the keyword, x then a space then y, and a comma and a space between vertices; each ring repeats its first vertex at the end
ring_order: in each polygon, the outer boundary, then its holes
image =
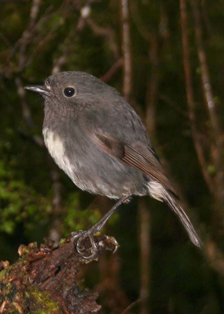
MULTIPOLYGON (((93 225, 88 230, 85 230, 85 231, 84 230, 79 230, 79 231, 75 231, 75 232, 71 233, 71 240, 72 241, 74 241, 75 239, 78 238, 77 245, 76 245, 76 250, 77 250, 77 252, 79 252, 79 254, 83 258, 89 259, 89 258, 93 258, 93 257, 96 256, 96 254, 97 254, 97 246, 96 246, 96 243, 95 243, 95 241, 93 239, 93 235, 97 231, 101 230, 101 228, 106 224, 107 220, 115 212, 117 207, 120 206, 128 197, 129 197, 129 195, 128 196, 123 196, 122 198, 120 198, 119 201, 117 201, 117 203, 114 204, 114 206, 107 212, 107 214, 105 214, 99 221, 97 221, 97 223, 95 225, 93 225), (81 242, 87 236, 89 236, 89 238, 90 238, 90 242, 91 242, 91 246, 92 246, 92 254, 90 256, 83 256, 82 252, 81 252, 81 242)), ((115 240, 115 244, 116 244, 116 240, 115 240)))

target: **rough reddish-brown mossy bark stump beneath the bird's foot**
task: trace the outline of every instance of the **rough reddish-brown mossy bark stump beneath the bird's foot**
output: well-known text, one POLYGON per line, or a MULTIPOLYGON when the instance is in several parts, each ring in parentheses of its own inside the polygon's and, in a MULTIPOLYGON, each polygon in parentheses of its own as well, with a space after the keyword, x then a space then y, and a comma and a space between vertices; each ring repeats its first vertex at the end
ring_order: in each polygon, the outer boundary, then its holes
MULTIPOLYGON (((113 238, 94 236, 98 255, 114 249, 113 238)), ((12 265, 0 262, 0 313, 89 314, 97 313, 97 292, 79 290, 76 276, 79 265, 90 263, 75 249, 76 243, 63 239, 53 249, 53 241, 46 238, 37 248, 36 242, 19 246, 19 259, 12 265)), ((82 242, 84 255, 90 255, 87 237, 82 242)), ((95 258, 95 260, 97 260, 95 258)))

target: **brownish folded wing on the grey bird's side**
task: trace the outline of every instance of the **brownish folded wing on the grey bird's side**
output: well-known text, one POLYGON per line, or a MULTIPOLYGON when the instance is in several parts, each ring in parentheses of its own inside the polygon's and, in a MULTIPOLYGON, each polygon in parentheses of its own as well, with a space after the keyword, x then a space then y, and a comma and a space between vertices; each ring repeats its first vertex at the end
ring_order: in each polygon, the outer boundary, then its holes
POLYGON ((134 167, 150 178, 161 183, 165 188, 176 195, 169 183, 155 152, 142 143, 125 144, 108 135, 93 135, 95 143, 104 149, 109 155, 134 167))

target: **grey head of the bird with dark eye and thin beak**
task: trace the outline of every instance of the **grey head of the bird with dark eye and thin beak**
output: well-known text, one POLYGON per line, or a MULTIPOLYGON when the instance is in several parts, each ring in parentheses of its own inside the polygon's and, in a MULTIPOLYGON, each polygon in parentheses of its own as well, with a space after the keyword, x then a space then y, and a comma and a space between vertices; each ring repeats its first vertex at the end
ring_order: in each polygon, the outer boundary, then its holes
POLYGON ((116 89, 98 78, 79 71, 57 73, 46 78, 43 85, 25 89, 41 94, 47 106, 73 109, 107 103, 108 99, 119 95, 116 89))

